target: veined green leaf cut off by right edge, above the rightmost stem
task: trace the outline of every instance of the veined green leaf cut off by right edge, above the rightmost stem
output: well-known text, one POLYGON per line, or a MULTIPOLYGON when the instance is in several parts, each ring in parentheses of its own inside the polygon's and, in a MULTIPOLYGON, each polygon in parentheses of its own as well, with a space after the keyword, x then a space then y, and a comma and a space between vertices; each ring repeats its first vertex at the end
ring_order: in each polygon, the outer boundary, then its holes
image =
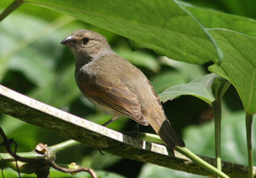
POLYGON ((256 38, 225 29, 210 31, 224 52, 220 64, 209 70, 236 87, 246 113, 256 112, 256 38))

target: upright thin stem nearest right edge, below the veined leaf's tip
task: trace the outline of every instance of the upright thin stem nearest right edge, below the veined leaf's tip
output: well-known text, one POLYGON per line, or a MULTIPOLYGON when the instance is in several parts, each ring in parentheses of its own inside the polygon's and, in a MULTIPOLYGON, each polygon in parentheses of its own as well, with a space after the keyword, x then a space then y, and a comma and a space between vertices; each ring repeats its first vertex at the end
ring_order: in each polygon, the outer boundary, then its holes
POLYGON ((249 178, 253 178, 253 159, 252 159, 252 114, 246 114, 246 141, 248 152, 249 178))

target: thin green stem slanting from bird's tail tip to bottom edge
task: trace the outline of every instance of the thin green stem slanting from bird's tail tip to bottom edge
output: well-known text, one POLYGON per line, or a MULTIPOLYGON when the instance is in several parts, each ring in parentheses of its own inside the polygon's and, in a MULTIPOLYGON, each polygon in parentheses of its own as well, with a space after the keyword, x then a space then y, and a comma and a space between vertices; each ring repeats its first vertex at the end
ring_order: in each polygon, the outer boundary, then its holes
POLYGON ((193 161, 200 167, 204 168, 205 170, 211 172, 212 174, 217 175, 218 177, 221 177, 221 178, 228 178, 228 175, 224 174, 223 172, 218 170, 216 167, 213 167, 203 159, 199 158, 198 156, 196 156, 196 154, 191 152, 189 149, 186 149, 185 147, 175 147, 175 151, 180 152, 184 156, 191 159, 191 161, 193 161))

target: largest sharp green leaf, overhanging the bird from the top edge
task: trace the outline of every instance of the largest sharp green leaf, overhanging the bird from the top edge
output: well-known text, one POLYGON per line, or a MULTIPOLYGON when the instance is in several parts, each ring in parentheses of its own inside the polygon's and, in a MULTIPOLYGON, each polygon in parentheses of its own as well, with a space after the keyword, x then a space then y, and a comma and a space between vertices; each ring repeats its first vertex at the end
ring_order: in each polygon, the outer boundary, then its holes
POLYGON ((175 1, 31 0, 24 3, 71 15, 179 61, 202 64, 222 58, 211 35, 175 1))

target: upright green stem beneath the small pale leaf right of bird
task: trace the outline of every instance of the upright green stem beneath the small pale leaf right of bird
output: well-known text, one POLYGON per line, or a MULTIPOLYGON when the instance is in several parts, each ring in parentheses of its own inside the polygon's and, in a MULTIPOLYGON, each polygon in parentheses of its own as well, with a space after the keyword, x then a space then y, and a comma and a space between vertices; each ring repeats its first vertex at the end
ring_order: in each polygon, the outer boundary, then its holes
POLYGON ((221 100, 212 102, 215 126, 215 156, 216 166, 221 171, 221 100))

